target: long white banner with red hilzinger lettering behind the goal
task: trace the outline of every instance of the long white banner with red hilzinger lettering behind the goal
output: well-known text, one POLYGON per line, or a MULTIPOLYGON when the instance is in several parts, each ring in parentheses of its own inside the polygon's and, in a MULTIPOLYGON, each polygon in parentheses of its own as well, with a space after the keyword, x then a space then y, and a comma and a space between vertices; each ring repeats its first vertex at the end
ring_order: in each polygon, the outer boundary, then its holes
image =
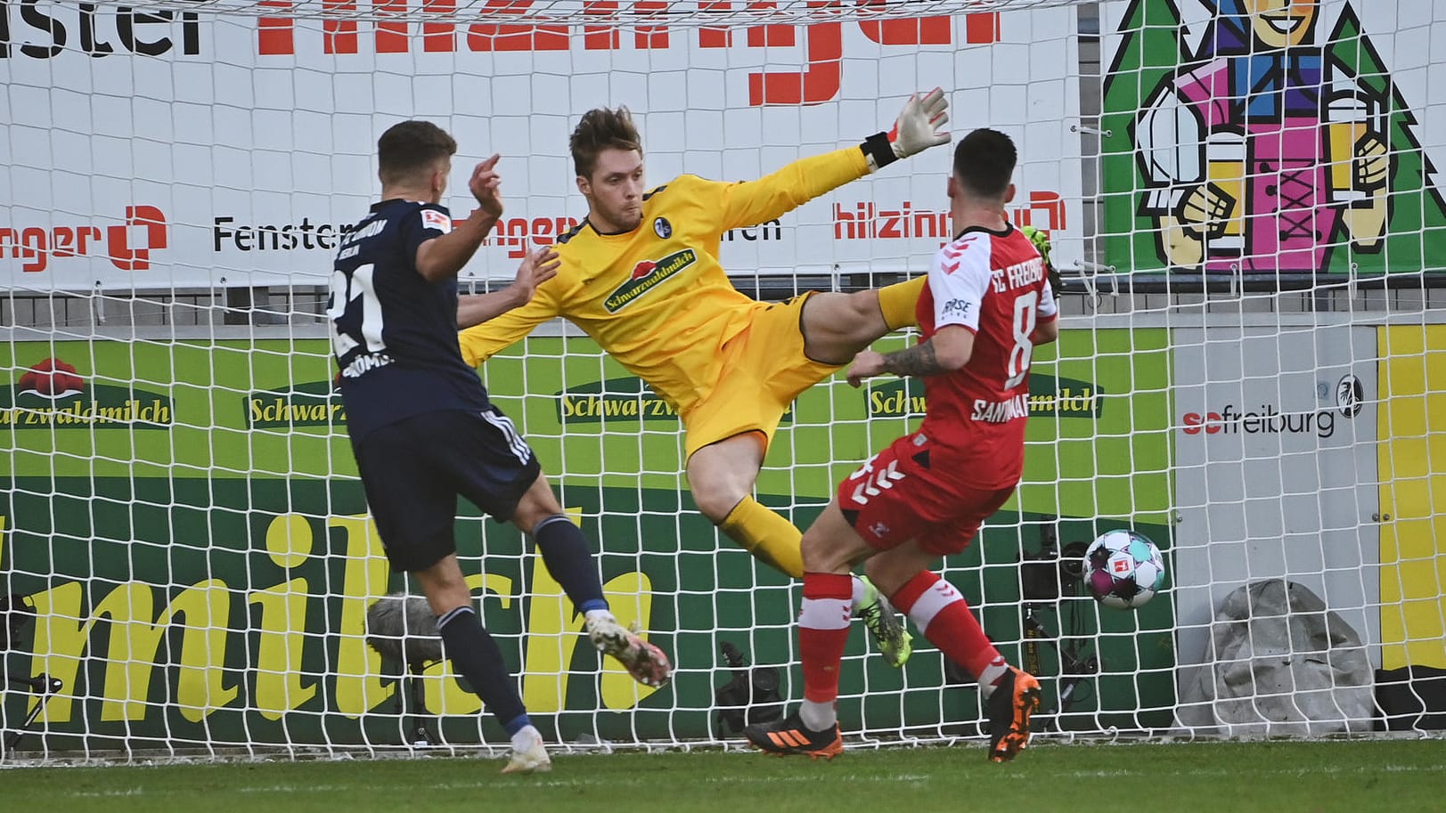
MULTIPOLYGON (((471 165, 503 155, 508 211, 464 277, 510 277, 526 247, 586 214, 567 140, 589 108, 633 110, 652 183, 736 181, 886 130, 936 85, 954 133, 1017 139, 1014 219, 1051 230, 1057 260, 1080 256, 1073 9, 876 20, 850 4, 803 26, 740 13, 733 29, 619 30, 425 22, 419 3, 412 22, 262 6, 275 16, 0 4, 12 289, 324 284, 338 235, 379 194, 377 136, 411 117, 457 137, 444 202, 460 211, 471 165)), ((950 237, 950 159, 934 149, 729 232, 724 261, 735 274, 918 271, 950 237)))

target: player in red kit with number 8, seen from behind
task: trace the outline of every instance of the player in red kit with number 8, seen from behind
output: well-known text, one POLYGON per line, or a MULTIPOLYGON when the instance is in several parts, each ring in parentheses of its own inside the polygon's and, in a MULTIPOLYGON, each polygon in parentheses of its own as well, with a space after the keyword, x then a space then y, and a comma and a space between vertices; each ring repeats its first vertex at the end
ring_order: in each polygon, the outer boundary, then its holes
POLYGON ((962 552, 1014 494, 1024 469, 1034 347, 1058 336, 1045 260, 1004 206, 1017 153, 995 130, 954 150, 949 198, 959 235, 934 256, 918 297, 920 342, 886 355, 863 351, 849 383, 881 373, 924 377, 927 412, 847 479, 803 540, 798 650, 804 702, 748 739, 774 754, 833 758, 843 751, 834 700, 849 638, 850 570, 869 578, 947 657, 979 680, 989 716, 989 760, 1028 744, 1040 682, 1005 663, 959 591, 933 572, 962 552))

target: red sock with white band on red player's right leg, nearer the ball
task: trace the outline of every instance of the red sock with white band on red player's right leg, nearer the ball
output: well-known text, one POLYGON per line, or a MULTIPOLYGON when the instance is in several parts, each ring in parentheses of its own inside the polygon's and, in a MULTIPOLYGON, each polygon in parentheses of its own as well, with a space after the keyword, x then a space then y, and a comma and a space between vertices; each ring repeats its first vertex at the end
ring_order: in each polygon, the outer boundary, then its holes
POLYGON ((983 627, 964 596, 936 573, 920 570, 889 602, 908 614, 938 651, 969 670, 980 683, 992 684, 1006 670, 1004 656, 989 643, 983 627))

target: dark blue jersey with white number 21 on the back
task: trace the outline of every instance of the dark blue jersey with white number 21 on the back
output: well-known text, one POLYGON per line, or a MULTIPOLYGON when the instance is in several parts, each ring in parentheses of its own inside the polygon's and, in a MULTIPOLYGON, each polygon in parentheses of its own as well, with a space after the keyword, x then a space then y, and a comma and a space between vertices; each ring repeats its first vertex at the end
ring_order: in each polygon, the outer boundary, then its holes
POLYGON ((341 241, 327 318, 353 442, 414 414, 489 406, 457 347, 457 280, 416 271, 416 247, 448 231, 445 206, 390 199, 341 241))

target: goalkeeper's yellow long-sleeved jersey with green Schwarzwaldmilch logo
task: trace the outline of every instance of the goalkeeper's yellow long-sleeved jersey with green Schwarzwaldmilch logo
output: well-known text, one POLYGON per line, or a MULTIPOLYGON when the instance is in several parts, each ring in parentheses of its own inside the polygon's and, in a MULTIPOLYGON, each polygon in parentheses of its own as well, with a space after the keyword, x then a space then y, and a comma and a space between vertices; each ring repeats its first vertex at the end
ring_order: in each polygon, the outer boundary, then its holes
POLYGON ((531 303, 463 331, 463 358, 476 367, 562 316, 687 413, 717 383, 723 344, 766 308, 727 279, 717 258, 723 232, 771 221, 868 172, 855 146, 758 181, 680 175, 643 196, 636 230, 599 234, 584 221, 562 235, 557 276, 538 286, 531 303))

